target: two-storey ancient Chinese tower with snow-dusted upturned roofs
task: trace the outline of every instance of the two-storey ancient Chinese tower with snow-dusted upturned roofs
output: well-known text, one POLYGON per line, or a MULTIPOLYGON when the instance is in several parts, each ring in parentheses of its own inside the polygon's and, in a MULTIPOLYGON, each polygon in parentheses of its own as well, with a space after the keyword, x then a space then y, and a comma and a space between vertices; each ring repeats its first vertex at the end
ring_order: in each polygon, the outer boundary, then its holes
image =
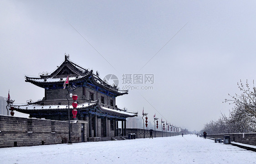
MULTIPOLYGON (((65 60, 51 74, 44 73, 40 77, 25 77, 26 82, 44 88, 45 95, 41 101, 29 101, 24 106, 12 106, 11 109, 29 114, 30 117, 49 120, 68 120, 68 101, 70 119, 72 120, 73 100, 69 93, 75 93, 77 99, 77 120, 88 121, 88 137, 117 136, 118 121, 122 121, 122 129, 126 129, 126 118, 138 115, 138 112, 120 109, 116 105, 116 97, 128 94, 117 86, 108 85, 92 70, 82 68, 65 55, 65 60), (69 77, 69 87, 63 89, 63 83, 69 77), (67 89, 72 87, 73 91, 67 89)), ((125 134, 124 134, 125 135, 125 134)))

